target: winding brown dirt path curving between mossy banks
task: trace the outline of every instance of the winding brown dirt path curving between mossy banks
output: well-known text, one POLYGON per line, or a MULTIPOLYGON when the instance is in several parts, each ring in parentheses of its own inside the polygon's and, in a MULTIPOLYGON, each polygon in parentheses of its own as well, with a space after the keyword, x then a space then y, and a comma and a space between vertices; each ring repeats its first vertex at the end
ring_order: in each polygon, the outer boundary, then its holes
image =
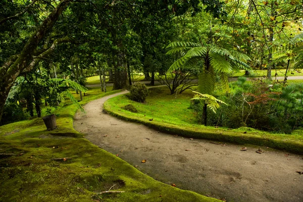
POLYGON ((258 146, 174 136, 103 112, 96 99, 75 115, 74 128, 141 172, 178 188, 227 201, 303 201, 303 156, 258 146), (146 160, 145 163, 141 163, 146 160))

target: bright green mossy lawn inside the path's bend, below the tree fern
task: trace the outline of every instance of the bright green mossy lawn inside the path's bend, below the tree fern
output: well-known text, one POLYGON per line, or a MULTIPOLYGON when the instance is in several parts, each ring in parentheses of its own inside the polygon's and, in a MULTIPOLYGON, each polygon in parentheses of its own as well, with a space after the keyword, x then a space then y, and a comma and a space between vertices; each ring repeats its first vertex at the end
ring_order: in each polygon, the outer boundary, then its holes
POLYGON ((235 130, 206 127, 198 124, 194 112, 188 109, 190 98, 193 96, 191 91, 177 94, 177 98, 175 95, 171 95, 166 87, 151 88, 150 91, 144 104, 129 100, 127 95, 120 95, 109 99, 104 108, 119 118, 142 123, 172 134, 240 144, 265 145, 303 154, 303 134, 301 132, 296 131, 292 135, 286 135, 246 127, 235 130), (129 104, 132 104, 139 113, 131 113, 122 109, 129 104), (153 119, 153 121, 149 121, 149 119, 153 119))

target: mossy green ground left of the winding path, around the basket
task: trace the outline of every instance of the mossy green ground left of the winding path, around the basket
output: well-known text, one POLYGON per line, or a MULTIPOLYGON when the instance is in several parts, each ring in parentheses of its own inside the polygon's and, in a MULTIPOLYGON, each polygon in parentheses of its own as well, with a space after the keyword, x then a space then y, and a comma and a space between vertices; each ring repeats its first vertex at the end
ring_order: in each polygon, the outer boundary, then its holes
MULTIPOLYGON (((115 92, 89 89, 81 104, 115 92)), ((0 201, 218 201, 158 182, 93 145, 73 129, 76 111, 62 104, 54 131, 41 118, 0 127, 0 153, 16 155, 0 155, 0 201), (97 194, 114 184, 125 192, 97 194)))

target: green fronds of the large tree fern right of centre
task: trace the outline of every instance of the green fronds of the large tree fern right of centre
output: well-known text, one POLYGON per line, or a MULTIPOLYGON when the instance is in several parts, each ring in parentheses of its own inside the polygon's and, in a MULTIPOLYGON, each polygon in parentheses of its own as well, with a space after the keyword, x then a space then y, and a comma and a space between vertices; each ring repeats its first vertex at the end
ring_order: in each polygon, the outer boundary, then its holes
POLYGON ((215 88, 215 70, 221 77, 221 86, 225 92, 229 92, 227 74, 235 69, 250 70, 246 64, 249 57, 215 45, 201 46, 191 42, 172 42, 167 48, 167 54, 181 53, 181 58, 172 64, 169 71, 181 67, 190 67, 203 61, 204 71, 199 75, 198 90, 201 93, 212 94, 215 88))

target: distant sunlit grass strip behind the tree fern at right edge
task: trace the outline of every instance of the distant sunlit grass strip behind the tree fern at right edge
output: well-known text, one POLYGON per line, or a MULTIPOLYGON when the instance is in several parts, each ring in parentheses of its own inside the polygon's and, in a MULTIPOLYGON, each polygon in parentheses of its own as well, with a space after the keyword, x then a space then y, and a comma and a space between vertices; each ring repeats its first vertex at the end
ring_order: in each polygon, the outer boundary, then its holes
MULTIPOLYGON (((275 76, 276 70, 272 70, 272 77, 275 76)), ((277 76, 285 76, 286 69, 277 69, 277 76)), ((303 71, 299 71, 300 73, 296 71, 287 71, 287 76, 303 76, 303 71), (291 74, 293 73, 293 74, 291 74)), ((267 70, 252 70, 251 72, 251 77, 263 77, 267 76, 267 70)), ((231 76, 232 77, 239 77, 243 76, 245 74, 245 70, 240 70, 240 72, 234 72, 231 76)))

